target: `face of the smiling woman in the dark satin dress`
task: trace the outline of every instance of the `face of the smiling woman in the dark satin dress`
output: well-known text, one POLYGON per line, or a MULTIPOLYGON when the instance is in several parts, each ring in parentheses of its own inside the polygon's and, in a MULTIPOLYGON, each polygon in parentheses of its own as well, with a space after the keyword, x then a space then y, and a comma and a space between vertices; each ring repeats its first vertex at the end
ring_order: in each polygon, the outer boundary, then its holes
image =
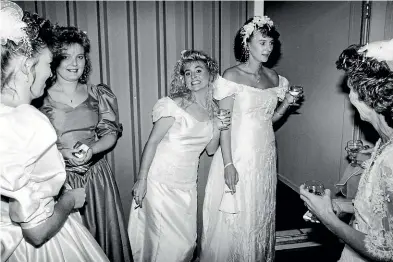
POLYGON ((62 53, 63 59, 56 69, 57 77, 68 82, 78 81, 85 70, 85 50, 80 44, 71 44, 62 53))

